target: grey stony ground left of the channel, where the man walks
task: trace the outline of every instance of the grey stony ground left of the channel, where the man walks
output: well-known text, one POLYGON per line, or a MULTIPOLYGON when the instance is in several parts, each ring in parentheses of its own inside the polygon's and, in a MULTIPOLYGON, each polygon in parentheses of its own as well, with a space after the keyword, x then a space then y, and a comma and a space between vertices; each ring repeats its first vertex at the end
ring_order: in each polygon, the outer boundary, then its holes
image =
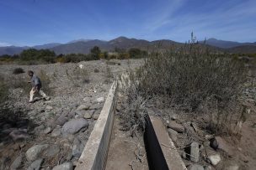
POLYGON ((111 82, 141 60, 99 60, 78 64, 0 65, 8 84, 1 103, 0 169, 73 169, 99 117, 111 82), (26 73, 39 75, 51 100, 29 103, 26 73))

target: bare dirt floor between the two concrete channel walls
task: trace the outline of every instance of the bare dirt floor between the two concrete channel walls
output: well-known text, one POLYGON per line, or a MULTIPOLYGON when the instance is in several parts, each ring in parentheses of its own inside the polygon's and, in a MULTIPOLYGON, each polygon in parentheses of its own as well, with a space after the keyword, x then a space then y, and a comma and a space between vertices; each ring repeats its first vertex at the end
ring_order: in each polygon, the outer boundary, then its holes
POLYGON ((143 137, 130 137, 120 131, 120 120, 115 116, 106 170, 147 170, 147 156, 143 137))

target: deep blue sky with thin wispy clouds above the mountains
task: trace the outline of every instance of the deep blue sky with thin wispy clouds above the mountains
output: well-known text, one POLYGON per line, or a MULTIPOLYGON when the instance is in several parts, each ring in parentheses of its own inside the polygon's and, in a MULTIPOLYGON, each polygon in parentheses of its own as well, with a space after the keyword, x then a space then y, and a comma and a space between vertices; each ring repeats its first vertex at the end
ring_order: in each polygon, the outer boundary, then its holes
POLYGON ((0 46, 74 39, 256 41, 255 0, 0 0, 0 46))

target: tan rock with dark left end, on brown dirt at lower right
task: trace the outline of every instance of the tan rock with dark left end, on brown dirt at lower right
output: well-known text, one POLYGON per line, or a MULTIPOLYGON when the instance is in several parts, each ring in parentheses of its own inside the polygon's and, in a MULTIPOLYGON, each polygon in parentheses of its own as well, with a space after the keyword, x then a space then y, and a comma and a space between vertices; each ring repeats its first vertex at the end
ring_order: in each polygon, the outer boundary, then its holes
POLYGON ((212 148, 220 149, 223 152, 226 152, 228 156, 232 157, 234 155, 234 148, 231 147, 223 138, 215 137, 211 139, 210 146, 212 148))

